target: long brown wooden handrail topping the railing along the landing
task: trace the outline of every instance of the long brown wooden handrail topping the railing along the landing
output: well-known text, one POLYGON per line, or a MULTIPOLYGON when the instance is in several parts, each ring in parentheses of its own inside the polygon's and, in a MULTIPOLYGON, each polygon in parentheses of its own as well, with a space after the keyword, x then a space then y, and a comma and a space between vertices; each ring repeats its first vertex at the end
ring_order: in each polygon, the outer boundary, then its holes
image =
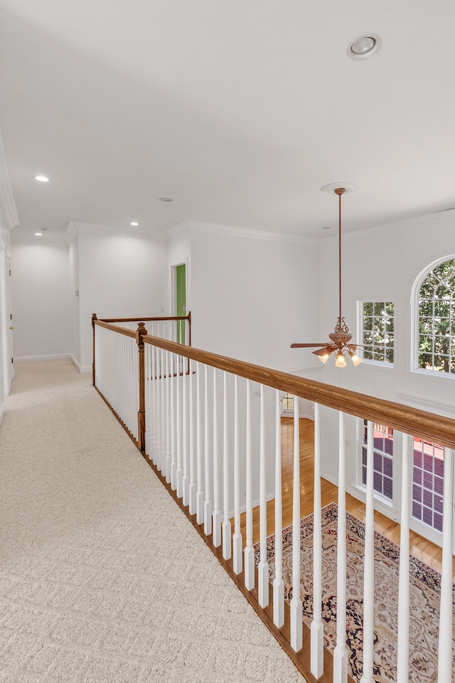
MULTIPOLYGON (((94 324, 112 329, 112 332, 126 334, 128 337, 136 337, 134 330, 99 320, 95 320, 94 324)), ((435 419, 434 413, 428 413, 419 410, 419 408, 412 408, 402 403, 387 401, 384 398, 375 398, 368 396, 368 394, 350 391, 350 389, 343 389, 279 370, 246 363, 229 356, 220 356, 210 351, 195 349, 194 346, 185 346, 160 337, 153 337, 151 334, 144 334, 142 341, 179 356, 185 356, 205 365, 245 377, 251 381, 266 384, 279 389, 279 391, 291 393, 293 396, 306 398, 308 401, 316 401, 321 406, 379 422, 400 432, 455 449, 455 420, 445 415, 437 415, 437 419, 435 419)))

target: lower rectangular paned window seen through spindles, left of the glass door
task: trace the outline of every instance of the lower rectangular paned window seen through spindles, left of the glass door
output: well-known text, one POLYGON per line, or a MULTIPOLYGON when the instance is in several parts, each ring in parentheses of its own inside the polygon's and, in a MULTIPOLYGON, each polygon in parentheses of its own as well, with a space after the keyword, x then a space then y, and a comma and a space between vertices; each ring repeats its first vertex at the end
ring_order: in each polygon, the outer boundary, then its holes
MULTIPOLYGON (((367 428, 363 422, 362 483, 367 483, 367 428)), ((393 497, 393 430, 385 425, 373 424, 373 488, 375 492, 392 500, 393 497)))

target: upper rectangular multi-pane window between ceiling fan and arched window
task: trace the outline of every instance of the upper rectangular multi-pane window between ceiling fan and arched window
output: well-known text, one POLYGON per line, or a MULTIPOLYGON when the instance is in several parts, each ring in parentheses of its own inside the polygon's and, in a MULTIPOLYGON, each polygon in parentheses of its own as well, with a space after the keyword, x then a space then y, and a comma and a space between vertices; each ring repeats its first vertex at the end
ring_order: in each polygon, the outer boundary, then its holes
POLYGON ((369 301, 362 305, 363 360, 393 364, 394 305, 369 301))

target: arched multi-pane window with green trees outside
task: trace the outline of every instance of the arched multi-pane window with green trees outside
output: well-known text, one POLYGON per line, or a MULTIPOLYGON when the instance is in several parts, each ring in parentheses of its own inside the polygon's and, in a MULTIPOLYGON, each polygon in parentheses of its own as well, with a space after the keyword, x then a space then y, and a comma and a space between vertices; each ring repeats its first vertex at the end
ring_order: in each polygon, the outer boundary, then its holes
POLYGON ((455 374, 455 259, 424 276, 418 315, 417 367, 455 374))

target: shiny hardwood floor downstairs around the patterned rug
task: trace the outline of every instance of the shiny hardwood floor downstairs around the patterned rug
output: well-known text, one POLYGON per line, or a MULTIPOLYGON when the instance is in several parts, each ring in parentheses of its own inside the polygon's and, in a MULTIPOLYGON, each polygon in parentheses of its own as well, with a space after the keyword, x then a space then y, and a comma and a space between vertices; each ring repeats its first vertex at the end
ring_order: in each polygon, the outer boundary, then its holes
MULTIPOLYGON (((300 505, 301 517, 313 512, 314 501, 314 423, 311 420, 300 420, 300 505)), ((294 419, 282 418, 282 497, 283 497, 283 526, 292 523, 292 467, 294 450, 294 419)), ((322 505, 336 502, 338 488, 321 480, 322 505)), ((354 517, 365 520, 365 504, 350 494, 346 495, 346 509, 354 517)), ((242 534, 245 534, 245 514, 242 514, 242 534)), ((375 512, 375 529, 395 544, 400 545, 400 524, 375 512)), ((274 533, 274 501, 267 503, 267 535, 274 533)), ((244 535, 245 538, 245 535, 244 535)), ((253 511, 253 543, 259 541, 259 508, 253 511)), ((414 531, 410 531, 410 553, 424 563, 441 571, 442 551, 439 546, 427 541, 414 531)), ((455 558, 453 559, 453 573, 455 581, 455 558)))

